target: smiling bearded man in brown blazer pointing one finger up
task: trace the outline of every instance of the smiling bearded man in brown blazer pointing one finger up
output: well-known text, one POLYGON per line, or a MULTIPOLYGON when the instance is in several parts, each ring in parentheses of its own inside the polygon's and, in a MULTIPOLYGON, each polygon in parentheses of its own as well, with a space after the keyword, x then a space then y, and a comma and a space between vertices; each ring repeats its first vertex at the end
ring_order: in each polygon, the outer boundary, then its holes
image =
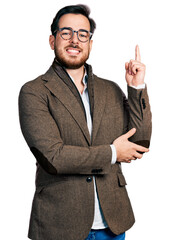
POLYGON ((84 5, 57 13, 49 39, 55 60, 20 92, 21 129, 37 160, 33 240, 122 240, 134 224, 121 162, 149 151, 145 66, 137 46, 125 64, 128 101, 94 75, 86 63, 96 27, 89 13, 84 5))

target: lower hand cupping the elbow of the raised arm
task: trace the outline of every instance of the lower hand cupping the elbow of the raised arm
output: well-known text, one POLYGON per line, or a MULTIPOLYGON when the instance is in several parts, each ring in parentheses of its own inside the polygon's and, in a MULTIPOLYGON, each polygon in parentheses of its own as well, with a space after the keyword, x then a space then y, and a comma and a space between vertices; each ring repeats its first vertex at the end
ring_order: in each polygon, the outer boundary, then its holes
POLYGON ((148 152, 149 149, 130 142, 128 139, 132 137, 136 132, 135 128, 132 128, 126 134, 118 137, 114 142, 117 153, 117 162, 130 163, 131 160, 142 158, 143 154, 139 152, 148 152))

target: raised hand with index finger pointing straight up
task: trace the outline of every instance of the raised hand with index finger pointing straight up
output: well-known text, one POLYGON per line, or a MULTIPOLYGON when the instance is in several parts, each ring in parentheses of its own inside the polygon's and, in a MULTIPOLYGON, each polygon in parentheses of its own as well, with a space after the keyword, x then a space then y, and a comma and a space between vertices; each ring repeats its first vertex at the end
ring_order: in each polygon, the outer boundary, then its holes
POLYGON ((139 46, 135 48, 135 60, 130 60, 130 62, 125 63, 126 69, 126 82, 129 86, 138 86, 144 84, 145 77, 145 65, 141 63, 141 56, 139 51, 139 46))

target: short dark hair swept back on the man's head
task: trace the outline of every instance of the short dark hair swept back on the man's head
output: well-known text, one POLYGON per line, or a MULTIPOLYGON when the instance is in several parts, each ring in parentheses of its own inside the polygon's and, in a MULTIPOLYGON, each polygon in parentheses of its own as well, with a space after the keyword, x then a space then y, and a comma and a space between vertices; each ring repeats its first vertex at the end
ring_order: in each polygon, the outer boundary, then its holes
POLYGON ((95 21, 89 17, 90 15, 90 8, 86 5, 83 4, 77 4, 77 5, 70 5, 70 6, 66 6, 62 9, 60 9, 58 11, 58 13, 56 14, 55 18, 53 19, 53 22, 51 24, 51 33, 52 35, 56 35, 56 32, 54 33, 54 31, 56 29, 58 29, 58 22, 60 20, 60 18, 68 13, 73 13, 73 14, 82 14, 84 15, 90 23, 90 32, 94 33, 94 30, 96 29, 96 23, 95 21))

